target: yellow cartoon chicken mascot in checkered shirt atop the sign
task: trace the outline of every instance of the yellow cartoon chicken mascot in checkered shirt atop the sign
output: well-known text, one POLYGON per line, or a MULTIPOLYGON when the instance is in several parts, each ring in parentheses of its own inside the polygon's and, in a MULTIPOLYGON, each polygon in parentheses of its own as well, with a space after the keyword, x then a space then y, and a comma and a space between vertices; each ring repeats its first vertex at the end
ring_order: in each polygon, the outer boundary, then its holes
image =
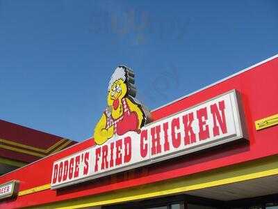
POLYGON ((140 128, 149 121, 149 111, 135 99, 134 73, 126 66, 118 66, 111 76, 107 104, 95 127, 96 144, 104 144, 115 134, 122 135, 140 128))

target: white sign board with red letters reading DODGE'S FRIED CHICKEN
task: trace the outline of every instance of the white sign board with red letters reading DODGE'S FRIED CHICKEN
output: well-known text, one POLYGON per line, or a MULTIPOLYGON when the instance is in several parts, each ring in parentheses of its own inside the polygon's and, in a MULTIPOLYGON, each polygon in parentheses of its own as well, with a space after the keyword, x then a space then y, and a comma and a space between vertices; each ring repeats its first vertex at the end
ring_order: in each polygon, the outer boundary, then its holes
POLYGON ((140 132, 114 134, 104 144, 54 162, 51 188, 247 139, 240 109, 239 95, 233 90, 149 123, 140 132))

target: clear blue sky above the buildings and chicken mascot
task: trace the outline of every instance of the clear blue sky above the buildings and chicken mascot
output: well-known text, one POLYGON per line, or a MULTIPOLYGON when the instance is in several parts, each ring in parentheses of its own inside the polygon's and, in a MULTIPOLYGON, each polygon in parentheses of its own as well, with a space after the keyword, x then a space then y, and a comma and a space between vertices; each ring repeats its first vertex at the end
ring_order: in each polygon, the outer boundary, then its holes
POLYGON ((0 118, 81 141, 117 65, 154 109, 277 49, 275 0, 0 0, 0 118))

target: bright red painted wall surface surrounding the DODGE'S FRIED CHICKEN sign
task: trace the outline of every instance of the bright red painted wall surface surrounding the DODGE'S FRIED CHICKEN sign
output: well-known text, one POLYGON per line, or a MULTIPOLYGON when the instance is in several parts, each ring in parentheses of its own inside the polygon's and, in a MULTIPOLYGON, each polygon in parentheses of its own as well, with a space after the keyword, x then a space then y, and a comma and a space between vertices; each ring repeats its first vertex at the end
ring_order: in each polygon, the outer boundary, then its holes
MULTIPOLYGON (((19 196, 14 200, 2 201, 0 208, 2 206, 4 208, 35 206, 54 201, 80 198, 81 196, 154 183, 156 181, 177 178, 179 176, 186 176, 192 173, 208 171, 210 169, 278 154, 278 125, 260 131, 256 131, 254 126, 254 121, 278 113, 277 69, 278 58, 272 59, 252 70, 240 73, 224 82, 199 91, 194 95, 190 95, 188 98, 183 98, 152 112, 154 120, 158 120, 235 88, 240 92, 242 98, 247 132, 250 139, 249 144, 230 144, 220 149, 216 148, 197 154, 184 155, 183 157, 179 157, 179 160, 174 160, 174 163, 170 161, 160 162, 155 167, 154 165, 150 165, 148 167, 133 169, 113 176, 100 178, 89 183, 87 182, 83 185, 75 185, 58 190, 47 189, 42 192, 19 196)), ((93 146, 92 140, 83 141, 56 155, 51 155, 27 167, 1 176, 0 184, 13 179, 20 180, 19 190, 48 184, 51 180, 52 163, 55 160, 90 146, 93 146)))

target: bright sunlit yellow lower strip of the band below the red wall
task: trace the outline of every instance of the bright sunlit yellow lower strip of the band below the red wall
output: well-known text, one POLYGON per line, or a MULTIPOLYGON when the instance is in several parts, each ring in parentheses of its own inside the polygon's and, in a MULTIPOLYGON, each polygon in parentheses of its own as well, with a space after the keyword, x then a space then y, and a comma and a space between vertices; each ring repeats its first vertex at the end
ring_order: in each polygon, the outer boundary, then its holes
POLYGON ((80 201, 70 201, 67 203, 58 203, 55 208, 59 209, 70 209, 70 208, 85 208, 92 206, 104 206, 111 205, 115 203, 123 203, 126 201, 136 201, 148 198, 154 198, 158 196, 166 196, 170 194, 178 194, 181 192, 188 192, 195 189, 203 189, 207 187, 215 187, 218 185, 224 185, 229 183, 236 183, 243 180, 250 180, 253 178, 261 178, 264 176, 269 176, 269 173, 278 173, 278 169, 274 169, 272 171, 266 171, 261 173, 254 173, 254 175, 246 175, 246 176, 238 176, 236 178, 227 178, 223 180, 214 180, 207 183, 199 183, 196 185, 191 185, 190 180, 189 183, 186 183, 186 180, 179 183, 171 183, 167 185, 167 183, 152 185, 152 188, 146 187, 145 189, 129 189, 128 191, 119 192, 118 194, 111 194, 90 197, 90 199, 81 199, 80 201), (147 190, 147 191, 146 191, 147 190), (128 194, 128 195, 127 195, 128 194))

